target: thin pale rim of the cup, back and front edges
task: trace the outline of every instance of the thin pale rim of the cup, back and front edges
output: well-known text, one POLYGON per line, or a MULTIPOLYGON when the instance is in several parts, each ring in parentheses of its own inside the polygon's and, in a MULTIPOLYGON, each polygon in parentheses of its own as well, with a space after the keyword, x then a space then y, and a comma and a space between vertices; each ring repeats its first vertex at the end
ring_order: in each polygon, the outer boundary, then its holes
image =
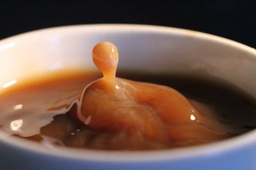
MULTIPOLYGON (((127 29, 134 29, 136 31, 147 31, 157 32, 161 34, 177 34, 181 36, 191 36, 197 39, 205 39, 208 41, 214 41, 215 43, 233 46, 239 50, 243 50, 246 53, 251 53, 256 57, 256 50, 249 46, 237 43, 230 39, 221 38, 211 34, 205 34, 203 32, 190 31, 186 29, 178 29, 173 27, 162 27, 154 25, 134 25, 134 24, 91 24, 91 25, 70 25, 63 27, 53 27, 48 29, 41 29, 38 31, 26 32, 17 36, 2 39, 0 45, 22 38, 24 36, 36 36, 36 34, 44 32, 45 34, 51 32, 61 33, 61 31, 72 31, 74 29, 95 29, 95 32, 99 29, 111 31, 115 27, 118 31, 127 31, 127 29), (97 28, 97 29, 96 29, 97 28)), ((237 137, 225 139, 215 143, 189 146, 186 148, 173 148, 168 150, 152 150, 152 151, 132 151, 132 152, 120 152, 120 151, 104 151, 104 150, 86 150, 77 148, 45 148, 32 141, 26 141, 15 137, 6 138, 6 133, 0 132, 0 141, 14 147, 22 148, 31 152, 36 152, 44 155, 53 157, 63 157, 66 159, 79 159, 79 160, 90 160, 90 161, 110 161, 110 162, 141 162, 141 161, 156 161, 156 160, 177 160, 177 159, 189 159, 191 157, 200 157, 212 155, 214 153, 225 153, 230 150, 243 148, 243 146, 252 145, 256 143, 256 130, 241 134, 237 137)))

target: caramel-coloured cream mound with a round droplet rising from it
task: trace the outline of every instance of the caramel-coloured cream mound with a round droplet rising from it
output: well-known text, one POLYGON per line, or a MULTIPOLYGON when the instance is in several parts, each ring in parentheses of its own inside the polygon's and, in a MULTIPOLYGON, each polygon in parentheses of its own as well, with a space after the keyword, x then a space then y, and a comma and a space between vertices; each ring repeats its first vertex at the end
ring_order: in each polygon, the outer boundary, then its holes
POLYGON ((112 43, 97 44, 93 62, 103 77, 86 87, 79 115, 91 129, 163 143, 222 138, 221 125, 204 117, 177 90, 116 78, 118 49, 112 43), (204 124, 220 129, 220 134, 204 124))

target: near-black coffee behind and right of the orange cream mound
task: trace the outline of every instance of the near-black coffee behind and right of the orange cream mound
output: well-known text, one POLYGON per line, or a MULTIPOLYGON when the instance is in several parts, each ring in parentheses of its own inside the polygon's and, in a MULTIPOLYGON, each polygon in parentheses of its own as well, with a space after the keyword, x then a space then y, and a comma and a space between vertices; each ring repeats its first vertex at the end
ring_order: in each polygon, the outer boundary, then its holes
POLYGON ((255 99, 225 81, 216 78, 168 75, 121 74, 120 76, 172 87, 188 99, 211 106, 220 122, 233 125, 241 132, 256 127, 255 99))

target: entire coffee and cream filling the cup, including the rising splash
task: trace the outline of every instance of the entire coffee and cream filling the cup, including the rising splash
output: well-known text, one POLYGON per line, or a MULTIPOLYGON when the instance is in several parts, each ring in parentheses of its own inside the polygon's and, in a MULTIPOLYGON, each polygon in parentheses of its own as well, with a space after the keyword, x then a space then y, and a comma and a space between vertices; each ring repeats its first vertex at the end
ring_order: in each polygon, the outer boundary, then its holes
POLYGON ((1 129, 49 147, 153 150, 211 143, 255 127, 255 105, 228 89, 204 81, 191 86, 195 80, 186 78, 178 92, 165 86, 172 78, 164 76, 140 78, 161 78, 165 85, 116 78, 118 50, 109 42, 93 48, 93 62, 100 79, 75 73, 5 92, 1 97, 11 106, 2 106, 1 129), (211 93, 216 98, 208 103, 211 93), (230 111, 241 119, 227 116, 230 111))

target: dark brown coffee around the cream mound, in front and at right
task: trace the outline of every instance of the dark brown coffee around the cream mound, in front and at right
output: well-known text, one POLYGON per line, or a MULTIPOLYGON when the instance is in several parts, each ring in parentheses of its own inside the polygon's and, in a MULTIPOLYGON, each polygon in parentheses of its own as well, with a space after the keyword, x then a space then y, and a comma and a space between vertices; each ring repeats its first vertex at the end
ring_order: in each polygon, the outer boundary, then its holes
MULTIPOLYGON (((139 75, 132 73, 118 74, 118 76, 130 80, 167 85, 178 90, 188 99, 206 104, 216 113, 216 119, 219 122, 232 128, 232 131, 225 132, 223 139, 237 136, 256 127, 256 104, 252 97, 226 83, 221 83, 221 81, 212 78, 211 80, 202 80, 200 78, 189 78, 188 76, 139 75)), ((59 84, 63 83, 60 81, 59 84)), ((88 128, 76 117, 76 111, 77 106, 74 104, 70 111, 63 115, 54 116, 51 124, 41 127, 40 134, 26 137, 26 139, 40 141, 43 145, 45 145, 45 141, 49 140, 51 145, 96 150, 152 150, 214 142, 204 140, 184 141, 182 143, 170 142, 163 145, 162 143, 145 141, 144 139, 132 141, 131 138, 131 140, 124 141, 122 139, 126 135, 125 133, 116 135, 104 131, 93 131, 88 128)), ((203 112, 203 114, 205 113, 203 112)), ((125 138, 129 139, 127 136, 125 138)), ((49 142, 47 141, 46 143, 49 142)))

